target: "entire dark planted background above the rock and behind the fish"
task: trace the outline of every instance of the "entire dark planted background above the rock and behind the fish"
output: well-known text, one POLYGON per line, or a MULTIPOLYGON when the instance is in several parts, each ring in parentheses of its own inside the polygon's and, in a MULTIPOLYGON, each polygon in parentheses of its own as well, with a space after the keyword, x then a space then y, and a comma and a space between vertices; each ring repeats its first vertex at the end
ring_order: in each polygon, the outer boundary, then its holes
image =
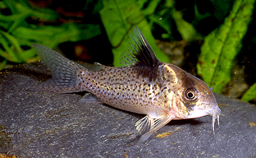
POLYGON ((0 1, 0 69, 39 60, 30 44, 119 66, 138 26, 160 61, 213 92, 256 101, 255 0, 0 1))

